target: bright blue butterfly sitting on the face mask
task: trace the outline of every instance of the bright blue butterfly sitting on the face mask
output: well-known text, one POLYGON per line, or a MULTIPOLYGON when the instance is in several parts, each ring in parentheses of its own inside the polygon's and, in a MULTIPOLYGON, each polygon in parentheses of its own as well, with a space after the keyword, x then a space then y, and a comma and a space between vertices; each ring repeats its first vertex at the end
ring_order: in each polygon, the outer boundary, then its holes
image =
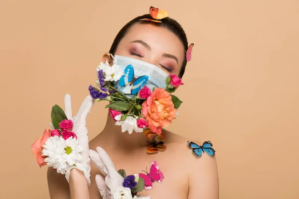
POLYGON ((131 87, 131 94, 136 95, 148 82, 149 76, 144 75, 139 78, 134 77, 134 68, 132 65, 128 65, 125 68, 125 74, 120 78, 119 85, 125 87, 129 85, 131 87))

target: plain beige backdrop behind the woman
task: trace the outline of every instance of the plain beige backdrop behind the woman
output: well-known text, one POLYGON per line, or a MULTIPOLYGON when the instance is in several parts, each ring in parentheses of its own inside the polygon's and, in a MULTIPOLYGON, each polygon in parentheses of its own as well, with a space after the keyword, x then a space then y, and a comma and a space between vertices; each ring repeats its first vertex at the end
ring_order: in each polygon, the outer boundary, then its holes
POLYGON ((150 5, 195 43, 168 129, 213 142, 220 199, 299 199, 298 0, 1 0, 0 198, 49 198, 30 145, 66 93, 77 110, 117 32, 150 5))

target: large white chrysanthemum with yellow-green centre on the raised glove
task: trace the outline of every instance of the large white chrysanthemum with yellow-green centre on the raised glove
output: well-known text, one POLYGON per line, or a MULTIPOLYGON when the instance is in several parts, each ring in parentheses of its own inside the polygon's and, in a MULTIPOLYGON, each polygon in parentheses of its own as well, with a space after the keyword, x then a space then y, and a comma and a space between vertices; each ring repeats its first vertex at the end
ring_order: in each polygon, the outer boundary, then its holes
POLYGON ((43 147, 42 155, 48 156, 45 162, 60 174, 65 174, 69 167, 78 164, 82 159, 80 152, 84 150, 78 145, 77 138, 70 137, 64 140, 56 135, 49 137, 43 147))

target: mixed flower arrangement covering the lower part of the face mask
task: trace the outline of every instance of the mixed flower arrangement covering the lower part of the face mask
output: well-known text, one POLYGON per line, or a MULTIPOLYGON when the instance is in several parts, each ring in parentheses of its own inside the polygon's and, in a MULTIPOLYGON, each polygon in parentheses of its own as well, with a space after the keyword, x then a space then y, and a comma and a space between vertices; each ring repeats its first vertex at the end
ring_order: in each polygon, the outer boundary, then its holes
POLYGON ((125 82, 125 78, 128 78, 126 69, 121 71, 119 65, 109 66, 106 62, 106 64, 101 63, 97 71, 98 79, 95 83, 98 88, 90 85, 90 95, 96 101, 110 101, 106 108, 109 108, 109 114, 116 121, 116 125, 122 126, 122 132, 126 130, 130 134, 133 130, 143 132, 144 128, 148 127, 152 132, 160 134, 162 127, 167 127, 177 116, 177 108, 182 101, 171 93, 183 83, 176 75, 169 75, 165 89, 150 89, 144 84, 137 84, 137 86, 134 84, 138 92, 124 94, 114 86, 113 82, 119 82, 122 87, 132 86, 132 82, 136 81, 135 77, 132 78, 131 83, 121 84, 125 82))

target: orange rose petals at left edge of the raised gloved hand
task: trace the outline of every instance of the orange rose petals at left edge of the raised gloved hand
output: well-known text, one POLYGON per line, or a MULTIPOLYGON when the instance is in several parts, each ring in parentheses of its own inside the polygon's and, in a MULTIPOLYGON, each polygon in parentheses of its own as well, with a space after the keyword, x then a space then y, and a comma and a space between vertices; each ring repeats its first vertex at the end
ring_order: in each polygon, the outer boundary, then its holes
POLYGON ((40 167, 47 164, 44 161, 45 157, 42 156, 41 154, 42 154, 43 145, 45 144, 45 142, 50 136, 51 136, 51 130, 45 129, 43 135, 39 137, 31 146, 32 153, 36 157, 37 163, 39 164, 40 167))

